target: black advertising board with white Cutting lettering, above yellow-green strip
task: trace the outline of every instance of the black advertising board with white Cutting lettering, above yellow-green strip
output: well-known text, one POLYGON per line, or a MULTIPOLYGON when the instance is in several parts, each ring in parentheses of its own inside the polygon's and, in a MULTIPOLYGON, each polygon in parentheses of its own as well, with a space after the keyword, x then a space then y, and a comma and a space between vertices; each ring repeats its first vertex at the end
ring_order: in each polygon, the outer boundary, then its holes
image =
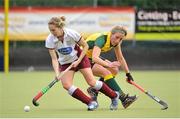
POLYGON ((180 10, 139 9, 136 12, 136 32, 180 32, 180 10))

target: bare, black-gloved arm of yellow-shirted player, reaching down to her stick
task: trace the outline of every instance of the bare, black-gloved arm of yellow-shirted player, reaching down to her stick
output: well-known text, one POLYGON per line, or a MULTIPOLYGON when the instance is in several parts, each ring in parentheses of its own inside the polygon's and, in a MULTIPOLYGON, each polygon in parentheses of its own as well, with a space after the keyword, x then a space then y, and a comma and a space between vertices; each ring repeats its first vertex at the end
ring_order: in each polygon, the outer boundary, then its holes
POLYGON ((120 62, 121 64, 121 68, 125 71, 126 76, 127 76, 127 80, 133 80, 133 77, 130 74, 129 71, 129 67, 128 64, 123 56, 122 50, 121 50, 121 43, 120 42, 116 47, 114 47, 114 52, 116 55, 117 60, 120 62))

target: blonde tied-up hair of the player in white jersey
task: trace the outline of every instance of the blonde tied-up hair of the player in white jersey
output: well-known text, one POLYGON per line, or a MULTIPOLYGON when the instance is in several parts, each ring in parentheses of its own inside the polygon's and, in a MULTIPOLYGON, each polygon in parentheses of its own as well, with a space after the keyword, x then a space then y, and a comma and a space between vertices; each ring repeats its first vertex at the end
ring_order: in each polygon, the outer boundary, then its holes
POLYGON ((64 16, 61 17, 52 17, 48 22, 48 25, 55 25, 56 27, 63 28, 65 26, 66 18, 64 16))

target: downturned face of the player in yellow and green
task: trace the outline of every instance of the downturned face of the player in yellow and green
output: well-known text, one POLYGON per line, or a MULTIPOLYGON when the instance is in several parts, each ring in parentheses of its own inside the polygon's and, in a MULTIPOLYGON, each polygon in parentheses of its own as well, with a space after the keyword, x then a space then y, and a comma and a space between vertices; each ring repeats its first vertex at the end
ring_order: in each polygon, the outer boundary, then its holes
POLYGON ((118 45, 124 37, 125 37, 124 34, 119 33, 119 32, 112 34, 111 35, 111 44, 113 46, 118 45))

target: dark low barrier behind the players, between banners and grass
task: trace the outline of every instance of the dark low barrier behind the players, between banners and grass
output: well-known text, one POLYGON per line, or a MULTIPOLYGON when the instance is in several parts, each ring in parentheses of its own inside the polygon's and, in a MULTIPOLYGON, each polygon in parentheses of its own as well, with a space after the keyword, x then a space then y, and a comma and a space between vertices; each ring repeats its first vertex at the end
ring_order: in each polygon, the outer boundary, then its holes
MULTIPOLYGON (((50 70, 51 59, 44 42, 11 42, 10 70, 50 70)), ((122 51, 130 69, 180 69, 179 41, 124 41, 122 51)), ((1 54, 1 50, 0 50, 1 54)), ((102 54, 115 60, 113 50, 102 54)))

